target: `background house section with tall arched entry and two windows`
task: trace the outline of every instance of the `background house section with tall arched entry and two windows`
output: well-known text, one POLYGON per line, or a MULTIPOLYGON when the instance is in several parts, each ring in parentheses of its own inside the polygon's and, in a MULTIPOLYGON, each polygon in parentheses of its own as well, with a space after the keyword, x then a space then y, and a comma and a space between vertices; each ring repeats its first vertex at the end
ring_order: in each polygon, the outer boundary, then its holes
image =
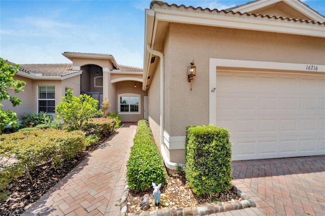
MULTIPOLYGON (((72 89, 75 96, 88 94, 103 101, 110 100, 110 112, 118 110, 123 122, 136 122, 146 117, 147 92, 142 90, 143 69, 118 65, 110 54, 64 52, 70 64, 22 64, 15 80, 26 82, 24 92, 15 96, 23 103, 4 108, 17 113, 40 111, 55 115, 55 106, 72 89)), ((98 109, 100 109, 100 103, 98 109)))

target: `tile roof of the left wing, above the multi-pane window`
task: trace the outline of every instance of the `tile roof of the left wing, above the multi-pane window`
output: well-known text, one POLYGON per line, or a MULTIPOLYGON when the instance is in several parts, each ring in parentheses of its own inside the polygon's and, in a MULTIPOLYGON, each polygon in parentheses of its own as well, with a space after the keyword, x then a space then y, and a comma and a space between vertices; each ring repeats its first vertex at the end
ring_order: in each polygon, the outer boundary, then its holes
POLYGON ((76 73, 72 64, 21 64, 19 70, 30 74, 42 74, 43 76, 64 76, 76 73))

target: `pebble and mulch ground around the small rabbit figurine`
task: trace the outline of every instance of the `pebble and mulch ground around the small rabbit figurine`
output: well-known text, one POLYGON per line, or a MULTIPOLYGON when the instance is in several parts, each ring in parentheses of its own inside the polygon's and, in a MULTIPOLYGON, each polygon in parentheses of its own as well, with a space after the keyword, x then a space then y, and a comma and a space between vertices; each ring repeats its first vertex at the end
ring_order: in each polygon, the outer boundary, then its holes
POLYGON ((230 189, 225 192, 217 193, 211 197, 198 197, 192 193, 192 190, 186 185, 184 176, 173 174, 167 177, 167 184, 160 189, 160 205, 154 207, 154 198, 152 195, 153 189, 145 192, 134 193, 129 191, 126 205, 127 213, 141 213, 143 211, 153 211, 162 209, 177 209, 179 207, 199 207, 207 206, 212 203, 231 202, 234 200, 242 200, 236 191, 230 189), (149 209, 142 210, 140 207, 140 200, 145 195, 150 196, 149 209))

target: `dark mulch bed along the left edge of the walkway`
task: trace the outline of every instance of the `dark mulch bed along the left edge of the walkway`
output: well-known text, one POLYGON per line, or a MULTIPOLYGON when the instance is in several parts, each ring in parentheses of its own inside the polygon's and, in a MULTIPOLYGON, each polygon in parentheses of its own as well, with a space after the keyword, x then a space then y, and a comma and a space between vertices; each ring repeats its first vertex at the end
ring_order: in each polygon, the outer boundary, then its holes
POLYGON ((83 161, 90 152, 98 148, 108 137, 101 138, 98 143, 88 146, 86 150, 72 159, 63 161, 59 167, 52 167, 47 162, 30 170, 30 175, 35 180, 34 185, 30 184, 29 178, 26 175, 20 176, 11 182, 7 188, 11 195, 6 200, 0 201, 1 215, 21 215, 83 161))

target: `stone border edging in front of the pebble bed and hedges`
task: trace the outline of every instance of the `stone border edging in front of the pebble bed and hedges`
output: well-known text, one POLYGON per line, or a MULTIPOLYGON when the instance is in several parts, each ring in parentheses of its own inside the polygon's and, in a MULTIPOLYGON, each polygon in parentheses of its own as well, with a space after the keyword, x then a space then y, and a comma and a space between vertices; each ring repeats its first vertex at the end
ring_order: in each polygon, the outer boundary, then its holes
MULTIPOLYGON (((236 187, 234 186, 235 190, 236 187)), ((128 196, 128 185, 125 185, 124 192, 120 201, 120 216, 125 216, 127 212, 126 200, 128 196)), ((231 211, 236 209, 243 209, 248 207, 256 207, 255 202, 249 198, 244 192, 241 190, 237 190, 236 193, 242 200, 235 200, 231 202, 222 202, 218 204, 212 204, 207 206, 200 207, 179 207, 177 209, 163 209, 163 210, 154 210, 154 211, 144 211, 141 213, 129 213, 129 216, 183 216, 183 215, 207 215, 213 213, 220 213, 225 211, 231 211)))

